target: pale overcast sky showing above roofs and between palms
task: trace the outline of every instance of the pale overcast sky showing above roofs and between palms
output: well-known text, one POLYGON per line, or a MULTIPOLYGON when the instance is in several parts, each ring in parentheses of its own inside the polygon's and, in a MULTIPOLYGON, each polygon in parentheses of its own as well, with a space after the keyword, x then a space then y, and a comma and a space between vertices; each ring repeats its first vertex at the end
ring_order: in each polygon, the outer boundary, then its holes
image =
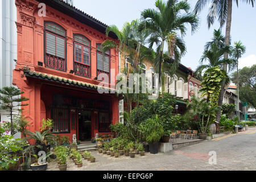
MULTIPOLYGON (((196 0, 188 0, 192 9, 196 0)), ((144 9, 154 9, 155 0, 74 0, 74 5, 105 24, 115 24, 121 30, 123 23, 131 22, 141 18, 144 9)), ((184 37, 187 53, 181 59, 181 64, 191 67, 194 71, 199 65, 204 45, 213 36, 213 30, 219 28, 216 22, 210 29, 207 26, 208 6, 201 12, 200 26, 197 32, 191 35, 191 28, 188 25, 187 35, 184 37)), ((222 28, 225 35, 225 27, 222 28)), ((256 7, 240 2, 239 7, 233 3, 232 44, 241 40, 246 46, 246 53, 239 60, 239 68, 256 64, 256 7)))

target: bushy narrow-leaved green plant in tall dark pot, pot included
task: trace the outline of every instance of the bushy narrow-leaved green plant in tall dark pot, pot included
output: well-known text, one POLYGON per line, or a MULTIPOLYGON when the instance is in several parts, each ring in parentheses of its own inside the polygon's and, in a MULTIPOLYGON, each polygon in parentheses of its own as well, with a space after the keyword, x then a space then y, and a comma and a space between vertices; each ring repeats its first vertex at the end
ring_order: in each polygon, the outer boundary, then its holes
POLYGON ((150 153, 158 153, 158 143, 160 138, 163 136, 163 122, 158 115, 154 115, 152 118, 148 118, 146 122, 143 123, 142 130, 146 135, 146 140, 149 144, 150 153))

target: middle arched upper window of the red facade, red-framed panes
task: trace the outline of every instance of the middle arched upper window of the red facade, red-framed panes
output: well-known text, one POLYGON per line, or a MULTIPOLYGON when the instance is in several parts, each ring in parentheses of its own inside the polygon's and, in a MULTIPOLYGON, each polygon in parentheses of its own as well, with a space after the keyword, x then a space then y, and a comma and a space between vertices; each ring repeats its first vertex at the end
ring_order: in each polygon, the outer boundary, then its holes
POLYGON ((74 35, 75 75, 90 77, 90 40, 83 35, 74 35))

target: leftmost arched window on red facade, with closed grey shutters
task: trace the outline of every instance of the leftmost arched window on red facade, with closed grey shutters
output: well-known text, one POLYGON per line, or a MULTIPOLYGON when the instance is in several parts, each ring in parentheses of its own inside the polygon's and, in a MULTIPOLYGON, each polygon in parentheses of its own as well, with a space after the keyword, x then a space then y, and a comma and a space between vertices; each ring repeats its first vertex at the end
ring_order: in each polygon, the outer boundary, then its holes
POLYGON ((44 22, 44 27, 46 67, 66 71, 66 31, 53 22, 44 22))

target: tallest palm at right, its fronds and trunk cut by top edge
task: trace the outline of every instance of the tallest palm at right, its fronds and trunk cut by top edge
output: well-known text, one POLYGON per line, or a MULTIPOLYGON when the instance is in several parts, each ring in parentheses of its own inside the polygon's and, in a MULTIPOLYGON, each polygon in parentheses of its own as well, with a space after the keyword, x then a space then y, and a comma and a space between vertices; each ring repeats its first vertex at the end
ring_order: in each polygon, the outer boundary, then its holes
MULTIPOLYGON (((208 28, 214 23, 214 20, 218 18, 218 22, 220 22, 220 27, 224 26, 226 23, 226 34, 225 34, 225 46, 230 45, 230 30, 231 30, 231 21, 232 21, 232 0, 197 0, 194 13, 200 13, 201 10, 204 9, 204 7, 207 5, 207 3, 211 2, 212 6, 209 8, 209 13, 207 15, 207 22, 208 22, 208 28)), ((235 1, 238 6, 238 0, 235 1)), ((251 5, 254 7, 255 0, 243 0, 243 2, 251 3, 251 5)), ((228 59, 228 53, 224 54, 224 59, 228 59)), ((224 71, 227 70, 228 65, 224 64, 223 69, 224 71)), ((225 81, 222 82, 221 90, 220 90, 220 96, 218 98, 218 106, 222 105, 223 96, 224 96, 224 86, 225 81)), ((220 114, 221 109, 219 107, 217 111, 217 118, 216 121, 220 121, 220 114)), ((218 129, 218 127, 217 127, 218 129)))

